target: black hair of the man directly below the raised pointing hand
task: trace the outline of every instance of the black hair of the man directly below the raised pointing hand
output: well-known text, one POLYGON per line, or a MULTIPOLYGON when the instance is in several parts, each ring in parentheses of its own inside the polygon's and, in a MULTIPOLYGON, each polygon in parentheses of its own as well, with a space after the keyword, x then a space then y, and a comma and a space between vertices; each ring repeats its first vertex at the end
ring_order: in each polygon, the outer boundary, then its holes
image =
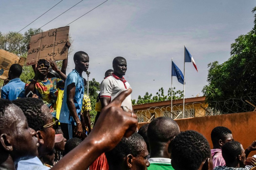
POLYGON ((128 138, 123 137, 113 150, 105 153, 109 166, 117 167, 129 154, 138 156, 144 150, 143 143, 145 141, 138 133, 133 133, 128 138))

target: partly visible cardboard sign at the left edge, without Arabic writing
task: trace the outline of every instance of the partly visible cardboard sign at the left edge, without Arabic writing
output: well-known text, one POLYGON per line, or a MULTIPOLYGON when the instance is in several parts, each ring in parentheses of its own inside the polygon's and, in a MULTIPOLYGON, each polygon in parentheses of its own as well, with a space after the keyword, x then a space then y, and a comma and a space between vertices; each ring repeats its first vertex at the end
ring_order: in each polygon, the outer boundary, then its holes
POLYGON ((26 58, 19 57, 13 53, 0 49, 0 78, 5 80, 8 77, 8 72, 12 64, 25 64, 26 58))

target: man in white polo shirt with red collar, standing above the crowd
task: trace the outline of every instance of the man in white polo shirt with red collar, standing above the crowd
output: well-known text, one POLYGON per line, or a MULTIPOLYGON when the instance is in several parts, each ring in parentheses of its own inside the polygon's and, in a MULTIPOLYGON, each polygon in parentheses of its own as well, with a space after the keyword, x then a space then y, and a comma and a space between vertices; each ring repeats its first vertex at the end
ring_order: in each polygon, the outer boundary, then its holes
MULTIPOLYGON (((114 73, 106 77, 100 83, 100 100, 102 108, 108 105, 111 100, 115 99, 121 92, 131 88, 130 84, 124 79, 123 75, 127 70, 127 64, 124 57, 116 57, 113 60, 114 73)), ((121 106, 132 109, 131 95, 127 96, 121 106)))

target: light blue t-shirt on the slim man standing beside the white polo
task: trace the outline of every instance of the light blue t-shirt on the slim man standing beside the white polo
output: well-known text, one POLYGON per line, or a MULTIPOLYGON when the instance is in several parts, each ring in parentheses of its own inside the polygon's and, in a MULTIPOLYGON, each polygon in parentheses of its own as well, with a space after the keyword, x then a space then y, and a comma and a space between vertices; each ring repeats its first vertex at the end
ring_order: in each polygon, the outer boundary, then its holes
POLYGON ((81 109, 83 106, 83 98, 84 98, 84 78, 80 76, 80 74, 73 70, 71 73, 68 74, 65 80, 65 87, 64 87, 64 96, 60 111, 60 122, 61 123, 68 123, 76 125, 74 118, 70 115, 67 106, 67 86, 71 83, 75 83, 75 96, 74 96, 74 104, 76 108, 77 115, 80 119, 81 109))

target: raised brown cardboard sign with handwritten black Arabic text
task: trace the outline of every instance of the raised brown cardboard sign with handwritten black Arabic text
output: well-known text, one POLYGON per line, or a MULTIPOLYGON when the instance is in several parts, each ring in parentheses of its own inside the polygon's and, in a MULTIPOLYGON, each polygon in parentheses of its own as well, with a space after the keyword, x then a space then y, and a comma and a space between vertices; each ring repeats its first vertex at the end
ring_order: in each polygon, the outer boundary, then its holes
POLYGON ((39 59, 47 61, 67 58, 69 26, 45 31, 31 36, 26 65, 34 65, 39 59))

